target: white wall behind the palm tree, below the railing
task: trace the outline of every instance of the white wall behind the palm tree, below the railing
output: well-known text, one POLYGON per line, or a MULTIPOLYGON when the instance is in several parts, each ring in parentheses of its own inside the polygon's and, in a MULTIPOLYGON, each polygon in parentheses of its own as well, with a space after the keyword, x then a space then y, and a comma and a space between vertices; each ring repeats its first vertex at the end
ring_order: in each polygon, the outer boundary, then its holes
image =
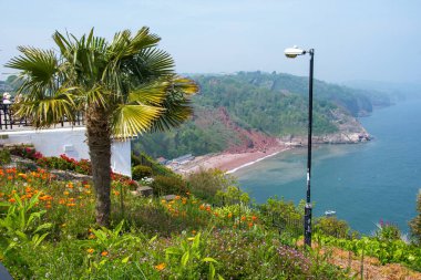
MULTIPOLYGON (((90 158, 85 127, 0 132, 0 144, 32 144, 44 156, 65 154, 78 160, 90 158)), ((111 168, 115 173, 132 176, 130 141, 113 142, 111 168)))

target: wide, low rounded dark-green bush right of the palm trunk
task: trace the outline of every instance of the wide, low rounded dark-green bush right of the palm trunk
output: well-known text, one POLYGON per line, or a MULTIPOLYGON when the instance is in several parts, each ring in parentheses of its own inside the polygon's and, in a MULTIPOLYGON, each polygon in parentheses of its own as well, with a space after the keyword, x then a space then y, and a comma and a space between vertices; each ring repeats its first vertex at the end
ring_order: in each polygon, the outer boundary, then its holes
POLYGON ((185 195, 188 191, 186 182, 178 177, 156 176, 151 187, 157 196, 185 195))

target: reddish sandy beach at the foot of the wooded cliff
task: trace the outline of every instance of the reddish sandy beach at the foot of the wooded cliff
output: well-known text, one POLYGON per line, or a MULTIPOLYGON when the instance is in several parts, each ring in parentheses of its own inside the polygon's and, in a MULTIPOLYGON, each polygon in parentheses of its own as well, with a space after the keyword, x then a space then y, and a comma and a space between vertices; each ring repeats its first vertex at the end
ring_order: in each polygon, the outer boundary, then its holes
POLYGON ((182 165, 176 172, 179 174, 189 174, 204 169, 218 168, 226 173, 234 173, 239 168, 253 165, 267 157, 290 149, 291 147, 284 144, 266 148, 265 152, 245 152, 245 153, 222 153, 215 155, 198 156, 194 160, 182 165))

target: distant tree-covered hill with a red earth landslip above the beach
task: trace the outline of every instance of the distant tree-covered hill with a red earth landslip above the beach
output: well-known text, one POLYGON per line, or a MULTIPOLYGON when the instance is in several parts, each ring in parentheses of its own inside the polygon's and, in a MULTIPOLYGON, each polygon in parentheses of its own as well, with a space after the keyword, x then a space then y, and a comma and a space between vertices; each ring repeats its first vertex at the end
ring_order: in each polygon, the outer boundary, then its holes
MULTIPOLYGON (((193 98, 193 120, 168 133, 143 135, 134 141, 134 149, 172 158, 261 149, 275 138, 307 133, 307 77, 275 72, 192 77, 201 85, 201 94, 193 98)), ((314 95, 314 133, 321 142, 343 132, 366 133, 355 117, 370 114, 373 104, 390 104, 388 96, 318 80, 314 95)))

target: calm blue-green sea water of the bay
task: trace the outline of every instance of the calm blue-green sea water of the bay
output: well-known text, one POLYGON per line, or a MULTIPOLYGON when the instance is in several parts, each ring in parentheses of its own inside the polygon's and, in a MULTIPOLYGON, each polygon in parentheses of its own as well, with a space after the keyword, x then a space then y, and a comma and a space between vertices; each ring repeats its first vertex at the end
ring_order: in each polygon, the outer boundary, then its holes
MULTIPOLYGON (((363 234, 380 219, 408 232, 421 188, 421 100, 377 110, 360 121, 373 141, 314 149, 314 212, 336 210, 363 234)), ((306 151, 278 154, 234 175, 257 203, 275 195, 298 203, 306 197, 306 151)))

